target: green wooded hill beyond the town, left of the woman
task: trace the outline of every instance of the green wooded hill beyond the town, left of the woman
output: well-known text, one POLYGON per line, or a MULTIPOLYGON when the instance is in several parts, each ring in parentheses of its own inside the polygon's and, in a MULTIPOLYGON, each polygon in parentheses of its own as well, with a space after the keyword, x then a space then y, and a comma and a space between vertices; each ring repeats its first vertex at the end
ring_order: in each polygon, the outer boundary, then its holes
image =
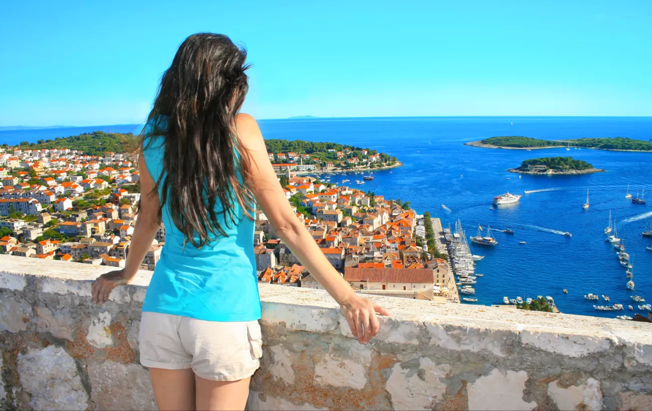
MULTIPOLYGON (((5 144, 4 147, 9 147, 5 144)), ((138 135, 132 133, 92 132, 70 137, 38 140, 36 143, 23 141, 17 149, 70 149, 78 150, 89 156, 104 156, 105 152, 134 152, 138 148, 138 135)))

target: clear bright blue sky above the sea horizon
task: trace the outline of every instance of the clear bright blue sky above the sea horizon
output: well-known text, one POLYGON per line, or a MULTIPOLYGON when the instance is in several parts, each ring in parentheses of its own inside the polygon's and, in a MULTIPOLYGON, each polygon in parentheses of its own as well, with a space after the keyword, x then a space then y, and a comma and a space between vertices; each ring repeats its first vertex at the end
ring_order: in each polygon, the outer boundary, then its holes
POLYGON ((258 119, 652 115, 652 2, 10 1, 0 126, 140 122, 183 39, 246 45, 258 119))

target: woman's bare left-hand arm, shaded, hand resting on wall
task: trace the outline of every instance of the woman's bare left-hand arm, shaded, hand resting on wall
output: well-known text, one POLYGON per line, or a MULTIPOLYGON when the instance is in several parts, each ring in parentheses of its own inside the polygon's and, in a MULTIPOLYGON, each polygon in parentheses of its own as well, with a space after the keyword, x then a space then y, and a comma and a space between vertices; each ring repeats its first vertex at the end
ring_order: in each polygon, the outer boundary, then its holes
POLYGON ((104 303, 116 285, 129 283, 136 276, 158 231, 158 192, 154 190, 156 183, 149 175, 142 155, 138 160, 138 170, 140 171, 140 207, 125 268, 102 274, 95 280, 92 287, 93 300, 100 304, 104 303))

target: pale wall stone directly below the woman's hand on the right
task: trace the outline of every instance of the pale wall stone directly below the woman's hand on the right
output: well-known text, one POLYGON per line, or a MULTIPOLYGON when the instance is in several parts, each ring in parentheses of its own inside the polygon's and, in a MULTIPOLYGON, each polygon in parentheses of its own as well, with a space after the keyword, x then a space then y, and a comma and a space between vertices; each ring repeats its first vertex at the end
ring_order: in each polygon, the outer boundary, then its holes
POLYGON ((362 390, 367 382, 366 368, 370 362, 371 350, 366 346, 354 346, 348 352, 331 349, 323 358, 315 360, 313 383, 362 390))

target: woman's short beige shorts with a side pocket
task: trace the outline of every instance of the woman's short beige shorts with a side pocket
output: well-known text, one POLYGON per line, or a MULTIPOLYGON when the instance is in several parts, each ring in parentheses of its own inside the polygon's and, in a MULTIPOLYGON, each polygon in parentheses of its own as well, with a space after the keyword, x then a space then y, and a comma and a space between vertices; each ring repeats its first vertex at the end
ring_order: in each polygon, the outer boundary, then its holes
POLYGON ((220 322, 143 313, 140 363, 188 369, 201 378, 235 381, 251 376, 263 355, 258 321, 220 322))

